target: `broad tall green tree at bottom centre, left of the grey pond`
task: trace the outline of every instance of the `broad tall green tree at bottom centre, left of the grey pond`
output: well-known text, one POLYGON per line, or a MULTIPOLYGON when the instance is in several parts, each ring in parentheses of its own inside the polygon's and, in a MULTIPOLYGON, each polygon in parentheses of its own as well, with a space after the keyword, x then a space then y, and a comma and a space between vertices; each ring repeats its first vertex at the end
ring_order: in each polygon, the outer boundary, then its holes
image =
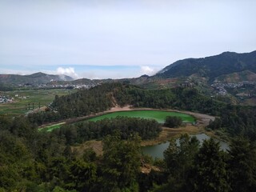
POLYGON ((103 186, 104 191, 136 188, 140 166, 140 138, 137 134, 127 141, 120 134, 106 136, 103 140, 103 186))

